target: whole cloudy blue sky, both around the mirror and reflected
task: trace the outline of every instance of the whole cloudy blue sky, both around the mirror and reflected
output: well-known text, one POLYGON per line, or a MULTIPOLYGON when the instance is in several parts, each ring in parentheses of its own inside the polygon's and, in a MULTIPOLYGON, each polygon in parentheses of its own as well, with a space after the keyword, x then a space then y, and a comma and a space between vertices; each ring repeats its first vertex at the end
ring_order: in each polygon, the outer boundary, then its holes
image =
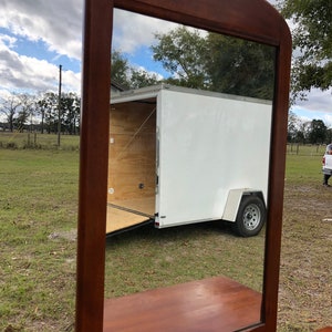
MULTIPOLYGON (((270 0, 270 2, 274 2, 270 0)), ((81 93, 83 0, 2 0, 0 2, 0 96, 11 93, 58 92, 59 65, 62 90, 81 93)), ((117 12, 114 48, 126 53, 132 64, 166 75, 149 59, 154 33, 167 32, 170 23, 117 12)), ((320 118, 332 127, 332 91, 312 90, 308 100, 292 111, 303 121, 320 118)))

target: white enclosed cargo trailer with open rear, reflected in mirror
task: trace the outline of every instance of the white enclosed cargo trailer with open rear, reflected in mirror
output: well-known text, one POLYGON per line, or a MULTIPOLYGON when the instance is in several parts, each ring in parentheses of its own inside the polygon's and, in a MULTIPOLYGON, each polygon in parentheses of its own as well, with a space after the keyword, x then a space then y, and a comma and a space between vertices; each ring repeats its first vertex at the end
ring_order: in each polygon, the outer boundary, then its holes
POLYGON ((112 93, 106 232, 266 220, 272 104, 172 85, 112 93))

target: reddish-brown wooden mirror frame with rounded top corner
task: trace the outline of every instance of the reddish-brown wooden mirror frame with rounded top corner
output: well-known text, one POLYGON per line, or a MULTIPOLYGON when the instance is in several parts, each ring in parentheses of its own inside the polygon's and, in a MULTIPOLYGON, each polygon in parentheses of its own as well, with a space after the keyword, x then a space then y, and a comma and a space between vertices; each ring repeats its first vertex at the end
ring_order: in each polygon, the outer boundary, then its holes
POLYGON ((113 9, 274 46, 268 224, 261 323, 274 331, 291 62, 289 28, 264 0, 85 0, 76 276, 76 331, 103 331, 113 9))

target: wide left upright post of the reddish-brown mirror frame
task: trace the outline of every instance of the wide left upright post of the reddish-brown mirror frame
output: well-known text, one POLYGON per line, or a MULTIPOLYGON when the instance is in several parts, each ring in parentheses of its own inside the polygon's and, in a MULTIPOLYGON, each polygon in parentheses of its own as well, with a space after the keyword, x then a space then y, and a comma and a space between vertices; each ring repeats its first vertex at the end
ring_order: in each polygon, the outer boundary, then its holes
POLYGON ((85 1, 80 144, 76 331, 102 331, 112 7, 85 1))

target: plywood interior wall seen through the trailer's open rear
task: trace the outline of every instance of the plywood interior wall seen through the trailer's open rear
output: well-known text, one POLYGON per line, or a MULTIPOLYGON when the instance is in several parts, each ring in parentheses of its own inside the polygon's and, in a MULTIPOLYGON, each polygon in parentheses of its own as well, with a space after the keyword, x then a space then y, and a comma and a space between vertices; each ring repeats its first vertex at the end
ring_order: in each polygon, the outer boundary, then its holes
POLYGON ((154 209, 155 108, 155 98, 111 105, 107 200, 144 214, 154 209))

